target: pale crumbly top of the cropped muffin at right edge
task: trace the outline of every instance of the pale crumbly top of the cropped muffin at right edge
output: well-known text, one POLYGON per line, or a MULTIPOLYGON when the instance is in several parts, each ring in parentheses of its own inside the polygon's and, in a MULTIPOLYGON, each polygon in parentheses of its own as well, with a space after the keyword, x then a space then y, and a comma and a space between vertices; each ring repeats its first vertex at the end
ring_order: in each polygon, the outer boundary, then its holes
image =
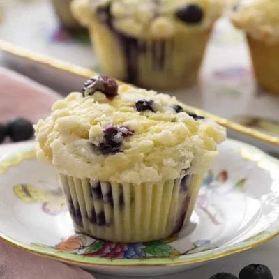
POLYGON ((231 17, 236 27, 266 43, 279 40, 279 1, 244 0, 231 17))

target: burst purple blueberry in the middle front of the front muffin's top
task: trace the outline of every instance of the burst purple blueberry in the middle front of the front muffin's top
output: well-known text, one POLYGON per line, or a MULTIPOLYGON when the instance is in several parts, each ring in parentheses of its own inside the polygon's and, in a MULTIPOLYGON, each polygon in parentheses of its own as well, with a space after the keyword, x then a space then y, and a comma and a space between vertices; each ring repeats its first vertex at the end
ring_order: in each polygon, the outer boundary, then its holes
POLYGON ((127 126, 116 127, 107 126, 104 129, 104 140, 100 142, 96 149, 103 155, 122 152, 122 142, 125 137, 133 135, 134 131, 127 126))

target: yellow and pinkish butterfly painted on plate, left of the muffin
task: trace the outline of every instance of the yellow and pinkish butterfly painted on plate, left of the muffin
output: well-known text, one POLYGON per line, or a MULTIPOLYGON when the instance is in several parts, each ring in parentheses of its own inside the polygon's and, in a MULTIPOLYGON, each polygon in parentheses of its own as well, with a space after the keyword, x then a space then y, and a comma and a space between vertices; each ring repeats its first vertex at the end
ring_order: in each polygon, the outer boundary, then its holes
POLYGON ((15 195, 27 204, 42 204, 45 213, 55 216, 66 211, 66 199, 62 190, 46 190, 30 184, 17 184, 13 187, 15 195))

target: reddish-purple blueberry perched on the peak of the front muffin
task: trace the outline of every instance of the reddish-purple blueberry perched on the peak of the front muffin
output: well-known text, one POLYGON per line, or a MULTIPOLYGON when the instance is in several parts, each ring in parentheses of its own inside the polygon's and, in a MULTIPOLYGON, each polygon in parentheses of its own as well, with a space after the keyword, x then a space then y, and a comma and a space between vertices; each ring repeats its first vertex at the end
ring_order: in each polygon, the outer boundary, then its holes
POLYGON ((114 97, 118 92, 118 84, 106 75, 96 75, 84 83, 82 94, 84 97, 91 96, 96 91, 104 93, 107 97, 114 97))

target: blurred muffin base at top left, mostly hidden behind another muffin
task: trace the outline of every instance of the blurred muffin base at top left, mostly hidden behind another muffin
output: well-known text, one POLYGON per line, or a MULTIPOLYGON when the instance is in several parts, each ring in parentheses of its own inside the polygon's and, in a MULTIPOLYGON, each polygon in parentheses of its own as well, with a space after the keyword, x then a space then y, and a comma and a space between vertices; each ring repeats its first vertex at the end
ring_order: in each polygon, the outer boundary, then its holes
POLYGON ((84 31, 84 27, 75 20, 70 10, 70 3, 72 1, 73 0, 52 0, 52 4, 64 28, 69 31, 84 31))

